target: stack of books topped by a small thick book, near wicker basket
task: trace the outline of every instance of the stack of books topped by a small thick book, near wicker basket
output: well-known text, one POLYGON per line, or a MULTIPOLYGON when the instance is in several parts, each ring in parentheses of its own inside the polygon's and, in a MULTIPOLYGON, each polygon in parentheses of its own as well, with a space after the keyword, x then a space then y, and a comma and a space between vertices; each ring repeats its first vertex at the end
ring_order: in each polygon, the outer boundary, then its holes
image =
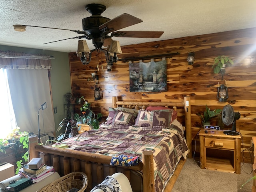
POLYGON ((33 158, 28 164, 24 165, 19 175, 29 178, 33 183, 39 182, 55 172, 53 166, 42 163, 42 158, 33 158))

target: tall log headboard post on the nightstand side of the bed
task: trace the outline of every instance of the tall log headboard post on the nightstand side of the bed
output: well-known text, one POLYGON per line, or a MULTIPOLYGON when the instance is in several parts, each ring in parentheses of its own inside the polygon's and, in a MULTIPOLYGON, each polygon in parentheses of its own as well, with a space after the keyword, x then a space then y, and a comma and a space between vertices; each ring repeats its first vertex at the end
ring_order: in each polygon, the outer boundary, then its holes
POLYGON ((191 125, 191 104, 190 96, 184 97, 185 122, 186 122, 186 142, 189 149, 188 158, 192 158, 192 125, 191 125))

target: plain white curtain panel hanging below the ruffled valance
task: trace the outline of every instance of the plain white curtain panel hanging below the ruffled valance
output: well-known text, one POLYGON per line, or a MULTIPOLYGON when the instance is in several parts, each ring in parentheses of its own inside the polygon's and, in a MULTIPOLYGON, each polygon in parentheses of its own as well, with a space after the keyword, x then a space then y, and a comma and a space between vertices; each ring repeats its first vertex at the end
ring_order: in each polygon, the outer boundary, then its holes
POLYGON ((7 69, 7 74, 16 122, 20 131, 38 135, 39 117, 40 134, 54 132, 48 70, 7 69), (47 108, 39 110, 44 102, 47 103, 47 108))

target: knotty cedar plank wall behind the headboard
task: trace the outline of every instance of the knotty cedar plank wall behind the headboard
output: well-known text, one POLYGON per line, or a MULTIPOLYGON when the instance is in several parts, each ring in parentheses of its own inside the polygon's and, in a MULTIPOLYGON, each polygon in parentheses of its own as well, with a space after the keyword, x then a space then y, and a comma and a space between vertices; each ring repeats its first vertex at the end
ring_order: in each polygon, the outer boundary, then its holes
MULTIPOLYGON (((118 40, 122 41, 122 38, 118 40)), ((207 104, 211 109, 223 108, 231 104, 235 112, 240 112, 241 118, 236 121, 243 140, 244 161, 250 161, 246 148, 250 147, 252 136, 256 136, 256 28, 189 36, 184 38, 148 42, 122 46, 119 58, 152 56, 178 52, 172 58, 166 58, 168 92, 130 92, 129 91, 129 62, 114 63, 112 72, 106 71, 104 54, 93 52, 92 61, 82 65, 75 53, 70 53, 70 74, 72 92, 75 97, 84 96, 92 103, 95 112, 108 115, 112 96, 122 96, 123 100, 144 100, 169 102, 191 96, 193 138, 201 127, 201 120, 196 115, 203 112, 207 104), (195 53, 195 62, 188 65, 188 52, 195 53), (220 74, 214 74, 212 65, 214 58, 224 54, 234 60, 234 66, 226 68, 224 80, 228 86, 228 102, 218 102, 218 84, 224 84, 220 74), (104 71, 97 70, 97 65, 103 65, 104 71), (95 82, 90 80, 91 73, 98 71, 102 100, 94 100, 95 82)), ((155 59, 158 61, 161 59, 155 59)), ((150 62, 150 60, 143 60, 150 62)), ((133 62, 139 62, 133 61, 133 62)), ((80 106, 75 106, 79 112, 80 106)), ((217 124, 217 119, 212 124, 217 124)), ((183 121, 182 116, 179 117, 183 121)), ((231 126, 225 126, 227 129, 231 126)), ((197 138, 198 140, 198 138, 197 138)), ((197 145, 198 146, 197 142, 197 145)), ((198 148, 198 147, 197 147, 198 148)), ((198 149, 196 149, 198 151, 198 149)))

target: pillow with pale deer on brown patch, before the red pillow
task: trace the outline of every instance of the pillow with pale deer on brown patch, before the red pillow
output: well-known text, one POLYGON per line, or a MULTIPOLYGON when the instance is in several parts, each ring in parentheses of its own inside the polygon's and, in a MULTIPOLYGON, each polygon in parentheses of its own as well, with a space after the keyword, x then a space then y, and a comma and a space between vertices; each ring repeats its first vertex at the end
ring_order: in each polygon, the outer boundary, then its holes
POLYGON ((148 111, 140 109, 134 126, 137 127, 168 127, 172 122, 173 110, 148 111))

